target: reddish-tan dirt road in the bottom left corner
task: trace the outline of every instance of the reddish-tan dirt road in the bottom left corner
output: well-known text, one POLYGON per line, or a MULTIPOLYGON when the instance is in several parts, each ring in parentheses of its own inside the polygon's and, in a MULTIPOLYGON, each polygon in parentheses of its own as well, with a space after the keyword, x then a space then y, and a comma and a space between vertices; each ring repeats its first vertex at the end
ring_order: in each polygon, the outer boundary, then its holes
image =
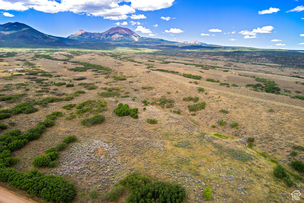
POLYGON ((3 187, 0 187, 0 203, 37 203, 29 198, 26 198, 20 194, 9 191, 3 187))

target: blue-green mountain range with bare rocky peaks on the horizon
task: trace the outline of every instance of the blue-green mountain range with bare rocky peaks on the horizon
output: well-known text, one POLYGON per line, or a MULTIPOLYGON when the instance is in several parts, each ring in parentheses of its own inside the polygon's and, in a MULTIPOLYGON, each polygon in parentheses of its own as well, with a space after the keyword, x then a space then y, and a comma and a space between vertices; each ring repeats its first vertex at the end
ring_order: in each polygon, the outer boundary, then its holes
MULTIPOLYGON (((163 39, 140 37, 124 27, 113 27, 102 33, 91 33, 79 30, 68 37, 56 37, 42 33, 23 23, 5 23, 0 25, 0 47, 73 47, 88 49, 113 49, 123 46, 130 48, 154 49, 202 49, 208 44, 191 40, 176 42, 163 39), (187 44, 185 44, 187 43, 187 44)), ((220 48, 221 46, 213 48, 220 48)))

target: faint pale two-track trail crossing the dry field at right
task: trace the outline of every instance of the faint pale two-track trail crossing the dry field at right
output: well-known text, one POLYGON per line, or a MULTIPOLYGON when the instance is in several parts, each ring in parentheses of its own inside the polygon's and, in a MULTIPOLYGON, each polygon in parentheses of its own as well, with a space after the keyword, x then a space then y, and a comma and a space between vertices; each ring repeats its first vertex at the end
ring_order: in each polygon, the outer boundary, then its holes
MULTIPOLYGON (((145 70, 145 69, 143 69, 143 70, 145 70)), ((154 73, 156 73, 158 75, 162 75, 162 76, 170 78, 170 79, 173 79, 176 82, 180 82, 180 83, 183 83, 183 84, 187 84, 187 85, 190 85, 190 86, 197 87, 197 85, 193 85, 193 84, 187 83, 185 81, 179 80, 177 78, 174 78, 174 77, 172 77, 170 75, 166 75, 166 74, 158 72, 158 71, 154 71, 154 73)), ((256 101, 262 101, 262 102, 266 102, 266 103, 272 103, 272 104, 276 104, 276 105, 287 106, 287 107, 292 107, 292 108, 304 110, 304 107, 299 107, 299 106, 295 106, 295 105, 292 105, 292 104, 281 103, 281 102, 270 101, 270 100, 264 100, 264 99, 260 99, 260 98, 256 98, 256 97, 251 97, 251 96, 246 96, 246 95, 242 95, 242 94, 227 92, 227 91, 223 91, 223 90, 219 90, 219 89, 214 89, 214 88, 209 88, 209 87, 204 87, 204 89, 209 89, 209 90, 213 90, 213 91, 217 91, 217 92, 221 92, 221 93, 226 93, 226 94, 230 94, 230 95, 234 95, 234 96, 239 96, 239 97, 243 97, 243 98, 248 98, 248 99, 252 99, 252 100, 256 100, 256 101)))

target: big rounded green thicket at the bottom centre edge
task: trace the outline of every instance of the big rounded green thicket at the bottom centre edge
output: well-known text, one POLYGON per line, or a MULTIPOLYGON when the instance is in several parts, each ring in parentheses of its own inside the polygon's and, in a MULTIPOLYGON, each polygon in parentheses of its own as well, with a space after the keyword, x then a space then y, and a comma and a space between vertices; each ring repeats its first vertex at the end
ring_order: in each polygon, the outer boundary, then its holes
MULTIPOLYGON (((128 173, 120 179, 112 189, 103 194, 103 197, 116 201, 119 196, 129 189, 129 196, 126 203, 140 202, 174 202, 181 203, 186 198, 184 187, 178 184, 164 183, 162 181, 151 182, 150 177, 142 175, 139 171, 128 173)), ((109 200, 108 199, 108 200, 109 200)))

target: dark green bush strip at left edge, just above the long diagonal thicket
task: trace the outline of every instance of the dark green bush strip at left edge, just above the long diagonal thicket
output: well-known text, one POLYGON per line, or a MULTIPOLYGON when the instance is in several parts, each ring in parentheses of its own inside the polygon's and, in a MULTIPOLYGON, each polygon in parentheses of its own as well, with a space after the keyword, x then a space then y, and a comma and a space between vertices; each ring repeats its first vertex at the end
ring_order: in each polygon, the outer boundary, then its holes
POLYGON ((14 107, 12 107, 11 109, 3 109, 0 110, 0 120, 4 119, 4 118, 8 118, 11 117, 12 114, 16 115, 16 114, 30 114, 33 112, 36 112, 38 110, 38 108, 33 107, 32 103, 19 103, 17 105, 15 105, 14 107))

